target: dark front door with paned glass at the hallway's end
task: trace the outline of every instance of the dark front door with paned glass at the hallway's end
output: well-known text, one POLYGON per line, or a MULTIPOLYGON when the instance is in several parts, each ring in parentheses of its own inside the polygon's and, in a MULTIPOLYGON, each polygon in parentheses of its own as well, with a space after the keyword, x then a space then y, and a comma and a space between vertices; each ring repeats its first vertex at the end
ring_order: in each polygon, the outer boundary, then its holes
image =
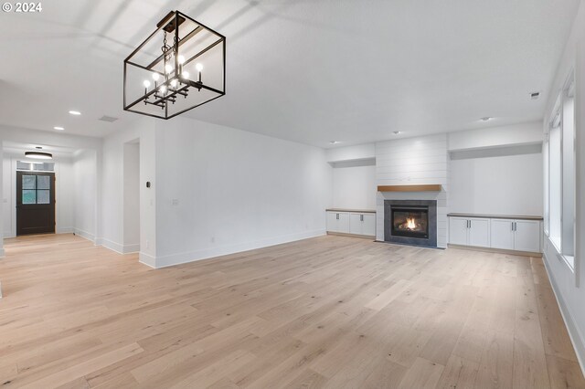
POLYGON ((55 232, 55 173, 16 172, 16 235, 55 232))

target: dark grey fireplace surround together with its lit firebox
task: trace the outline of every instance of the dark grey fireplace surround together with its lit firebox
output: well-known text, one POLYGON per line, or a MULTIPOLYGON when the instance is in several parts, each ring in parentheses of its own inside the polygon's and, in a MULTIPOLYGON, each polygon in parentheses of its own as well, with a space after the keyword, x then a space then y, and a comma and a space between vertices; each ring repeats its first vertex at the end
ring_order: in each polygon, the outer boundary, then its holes
POLYGON ((437 247, 437 201, 384 200, 384 240, 437 247))

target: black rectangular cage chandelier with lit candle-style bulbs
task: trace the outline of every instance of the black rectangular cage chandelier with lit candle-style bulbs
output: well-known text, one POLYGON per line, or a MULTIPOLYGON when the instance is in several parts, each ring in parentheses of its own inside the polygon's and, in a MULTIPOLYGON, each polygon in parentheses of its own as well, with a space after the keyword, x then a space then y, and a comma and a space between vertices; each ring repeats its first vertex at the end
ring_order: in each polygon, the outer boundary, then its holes
POLYGON ((226 37, 169 12, 124 59, 124 110, 170 119, 226 94, 226 37))

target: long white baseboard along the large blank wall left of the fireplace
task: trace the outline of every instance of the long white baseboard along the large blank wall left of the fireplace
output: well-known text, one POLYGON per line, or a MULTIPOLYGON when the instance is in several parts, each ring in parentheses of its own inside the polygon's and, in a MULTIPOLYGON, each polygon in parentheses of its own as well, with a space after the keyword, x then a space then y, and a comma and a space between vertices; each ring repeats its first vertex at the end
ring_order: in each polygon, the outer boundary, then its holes
MULTIPOLYGON (((326 234, 324 229, 302 232, 298 234, 284 235, 280 237, 268 237, 252 242, 240 243, 223 247, 205 248, 202 250, 189 251, 186 253, 172 254, 155 258, 154 268, 167 268, 169 266, 180 265, 197 260, 226 256, 229 254, 239 253, 242 251, 253 250, 261 247, 270 247, 281 245, 282 243, 293 242, 296 240, 308 239, 310 237, 321 237, 326 234)), ((142 261, 142 260, 141 260, 142 261)))

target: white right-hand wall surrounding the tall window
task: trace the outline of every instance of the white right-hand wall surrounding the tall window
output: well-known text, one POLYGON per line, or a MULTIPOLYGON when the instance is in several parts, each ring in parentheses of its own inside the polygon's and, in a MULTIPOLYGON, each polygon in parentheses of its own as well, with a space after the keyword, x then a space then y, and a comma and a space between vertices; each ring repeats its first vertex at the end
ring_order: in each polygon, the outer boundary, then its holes
MULTIPOLYGON (((555 289, 559 306, 569 335, 580 359, 581 369, 585 362, 585 2, 581 2, 579 12, 563 57, 559 62, 555 82, 548 95, 547 114, 552 111, 558 93, 563 88, 574 68, 576 72, 576 146, 577 146, 577 220, 576 220, 576 254, 573 273, 548 238, 545 239, 545 264, 551 283, 555 289)), ((545 117, 544 126, 548 127, 549 117, 545 117)))

